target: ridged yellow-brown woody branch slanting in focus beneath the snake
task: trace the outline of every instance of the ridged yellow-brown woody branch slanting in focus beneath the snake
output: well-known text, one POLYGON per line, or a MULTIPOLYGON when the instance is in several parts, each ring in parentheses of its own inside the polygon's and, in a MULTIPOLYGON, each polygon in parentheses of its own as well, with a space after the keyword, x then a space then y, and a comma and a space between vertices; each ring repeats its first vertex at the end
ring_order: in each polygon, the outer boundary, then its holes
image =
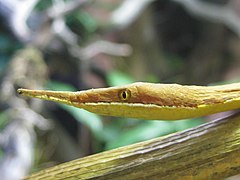
POLYGON ((237 114, 60 164, 26 179, 222 179, 239 173, 240 114, 237 114))

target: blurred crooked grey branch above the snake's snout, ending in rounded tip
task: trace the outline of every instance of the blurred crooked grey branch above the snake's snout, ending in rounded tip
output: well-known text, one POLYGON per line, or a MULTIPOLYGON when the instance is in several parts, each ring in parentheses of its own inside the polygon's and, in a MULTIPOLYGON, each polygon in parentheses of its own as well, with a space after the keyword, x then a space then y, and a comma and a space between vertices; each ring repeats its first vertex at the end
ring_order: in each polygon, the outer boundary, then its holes
POLYGON ((63 16, 66 15, 66 13, 76 10, 77 7, 80 7, 86 2, 89 2, 89 0, 73 1, 68 3, 66 6, 64 1, 55 0, 55 5, 49 11, 49 13, 55 17, 55 21, 52 26, 53 32, 57 34, 61 40, 68 44, 68 48, 70 49, 72 55, 79 59, 89 60, 100 53, 114 56, 129 56, 132 49, 127 44, 117 44, 100 40, 89 44, 85 48, 80 48, 77 45, 78 37, 66 26, 63 16))

